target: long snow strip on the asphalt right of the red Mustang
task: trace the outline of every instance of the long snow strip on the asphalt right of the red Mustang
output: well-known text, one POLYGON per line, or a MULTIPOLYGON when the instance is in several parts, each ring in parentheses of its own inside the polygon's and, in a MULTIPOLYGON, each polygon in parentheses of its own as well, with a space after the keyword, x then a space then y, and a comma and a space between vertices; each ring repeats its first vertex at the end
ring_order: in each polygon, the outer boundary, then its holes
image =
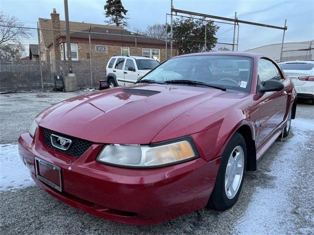
MULTIPOLYGON (((267 150, 268 154, 274 154, 277 158, 270 163, 270 172, 266 175, 276 180, 273 181, 273 185, 271 181, 267 181, 266 187, 256 188, 247 210, 237 221, 235 233, 268 234, 272 231, 272 234, 286 234, 287 231, 295 231, 293 223, 289 225, 286 223, 289 220, 293 221, 291 218, 293 205, 289 198, 289 190, 293 190, 296 184, 293 182, 295 165, 299 159, 299 149, 305 149, 305 143, 309 141, 305 134, 309 131, 314 131, 314 123, 303 118, 294 119, 291 122, 289 136, 283 142, 273 143, 277 146, 267 150), (285 211, 289 211, 290 216, 287 216, 285 211)), ((314 151, 314 149, 309 150, 314 151)))

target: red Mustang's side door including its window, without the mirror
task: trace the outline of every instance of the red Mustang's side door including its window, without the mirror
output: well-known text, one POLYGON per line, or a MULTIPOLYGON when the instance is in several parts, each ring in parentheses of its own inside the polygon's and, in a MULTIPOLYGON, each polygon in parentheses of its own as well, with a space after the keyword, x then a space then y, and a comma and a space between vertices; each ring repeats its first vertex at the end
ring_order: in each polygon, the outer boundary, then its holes
MULTIPOLYGON (((276 65, 266 58, 259 61, 259 82, 269 79, 283 81, 284 77, 276 65)), ((284 83, 285 84, 285 83, 284 83)), ((287 91, 266 92, 260 96, 260 125, 257 147, 262 147, 273 131, 284 121, 287 110, 287 91)))

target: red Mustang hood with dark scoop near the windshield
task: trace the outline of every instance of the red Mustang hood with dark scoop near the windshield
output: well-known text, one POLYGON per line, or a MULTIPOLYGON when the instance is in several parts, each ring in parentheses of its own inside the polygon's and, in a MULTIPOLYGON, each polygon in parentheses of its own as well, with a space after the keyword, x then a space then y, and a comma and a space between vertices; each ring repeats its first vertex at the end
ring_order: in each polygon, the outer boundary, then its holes
POLYGON ((39 126, 98 143, 149 144, 168 123, 220 90, 136 84, 81 95, 40 113, 39 126))

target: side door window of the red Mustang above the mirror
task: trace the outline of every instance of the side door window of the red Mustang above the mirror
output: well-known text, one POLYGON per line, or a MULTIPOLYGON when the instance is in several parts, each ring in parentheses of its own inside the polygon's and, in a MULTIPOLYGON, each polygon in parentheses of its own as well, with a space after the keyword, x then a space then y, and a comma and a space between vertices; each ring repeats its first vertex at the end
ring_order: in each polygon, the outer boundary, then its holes
POLYGON ((270 79, 278 81, 282 79, 280 72, 275 65, 271 61, 265 59, 260 59, 259 61, 259 77, 261 82, 270 79))

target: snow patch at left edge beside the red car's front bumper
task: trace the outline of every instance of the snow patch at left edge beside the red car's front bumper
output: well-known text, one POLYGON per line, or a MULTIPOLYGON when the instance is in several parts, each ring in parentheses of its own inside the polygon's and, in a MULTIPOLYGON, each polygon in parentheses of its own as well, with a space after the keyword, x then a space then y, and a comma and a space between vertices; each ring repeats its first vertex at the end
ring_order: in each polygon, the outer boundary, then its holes
POLYGON ((17 143, 0 144, 0 191, 33 186, 28 168, 19 157, 17 143))

